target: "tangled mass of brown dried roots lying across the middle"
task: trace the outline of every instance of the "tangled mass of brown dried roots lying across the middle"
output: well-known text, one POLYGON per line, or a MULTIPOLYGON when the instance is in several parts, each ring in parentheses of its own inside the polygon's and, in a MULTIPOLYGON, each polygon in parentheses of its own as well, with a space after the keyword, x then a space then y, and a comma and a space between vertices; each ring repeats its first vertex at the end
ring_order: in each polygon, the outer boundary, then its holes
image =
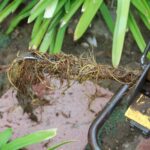
POLYGON ((46 55, 34 53, 37 59, 16 58, 8 69, 8 78, 12 85, 23 93, 27 88, 50 77, 83 82, 86 80, 114 79, 122 84, 133 85, 140 70, 126 68, 115 69, 109 65, 96 64, 95 61, 77 58, 73 55, 46 55), (40 59, 39 59, 40 58, 40 59))

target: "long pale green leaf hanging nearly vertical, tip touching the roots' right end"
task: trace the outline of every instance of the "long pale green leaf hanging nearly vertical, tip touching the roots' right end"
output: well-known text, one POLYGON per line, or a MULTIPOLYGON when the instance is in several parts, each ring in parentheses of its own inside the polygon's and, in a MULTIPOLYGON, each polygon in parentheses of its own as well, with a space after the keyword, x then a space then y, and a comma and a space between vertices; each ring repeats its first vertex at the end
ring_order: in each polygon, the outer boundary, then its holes
POLYGON ((121 59, 126 26, 129 14, 130 0, 117 1, 117 20, 113 35, 112 64, 118 67, 121 59))

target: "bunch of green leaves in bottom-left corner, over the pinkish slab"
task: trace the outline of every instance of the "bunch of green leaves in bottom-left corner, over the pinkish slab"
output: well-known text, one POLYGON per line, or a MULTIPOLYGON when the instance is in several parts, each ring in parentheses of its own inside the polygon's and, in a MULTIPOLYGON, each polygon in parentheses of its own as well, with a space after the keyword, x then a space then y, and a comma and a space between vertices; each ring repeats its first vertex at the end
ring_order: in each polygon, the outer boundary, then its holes
MULTIPOLYGON (((57 132, 56 129, 41 130, 35 133, 25 135, 23 137, 19 137, 13 141, 9 141, 12 136, 12 129, 8 128, 0 133, 0 149, 1 150, 18 150, 26 146, 51 139, 56 136, 56 132, 57 132)), ((68 144, 70 142, 72 141, 62 142, 60 144, 54 145, 48 150, 55 150, 56 148, 64 144, 68 144)))

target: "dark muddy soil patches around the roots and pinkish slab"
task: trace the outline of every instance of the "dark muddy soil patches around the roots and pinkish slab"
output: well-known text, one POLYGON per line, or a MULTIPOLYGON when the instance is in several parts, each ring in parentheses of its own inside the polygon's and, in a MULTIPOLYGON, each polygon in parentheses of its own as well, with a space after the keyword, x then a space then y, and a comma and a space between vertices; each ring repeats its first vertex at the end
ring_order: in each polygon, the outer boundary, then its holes
MULTIPOLYGON (((26 53, 30 41, 31 27, 32 25, 27 26, 22 24, 9 36, 3 33, 4 25, 0 27, 0 65, 8 65, 11 63, 18 52, 26 53)), ((98 19, 95 20, 94 25, 89 29, 84 38, 76 43, 72 40, 72 31, 73 25, 69 27, 67 36, 64 40, 63 50, 65 53, 72 53, 77 56, 92 54, 97 63, 111 64, 112 37, 105 28, 103 22, 98 19), (93 39, 94 42, 91 43, 89 39, 93 39)), ((137 67, 140 68, 140 56, 141 54, 132 40, 131 35, 128 34, 121 65, 132 69, 137 67)), ((97 84, 105 89, 107 88, 113 93, 120 87, 120 84, 113 80, 102 80, 97 84)), ((0 73, 0 96, 4 93, 8 93, 10 87, 6 73, 0 73)), ((5 95, 3 95, 3 97, 5 95)), ((106 122, 103 131, 100 130, 99 142, 103 149, 142 150, 143 147, 141 145, 138 146, 138 143, 143 140, 143 137, 140 132, 130 128, 124 117, 125 110, 126 101, 124 100, 106 122)), ((147 140, 144 142, 148 143, 147 140)), ((149 149, 150 147, 147 148, 149 149)), ((144 148, 144 150, 146 150, 146 148, 144 148)))

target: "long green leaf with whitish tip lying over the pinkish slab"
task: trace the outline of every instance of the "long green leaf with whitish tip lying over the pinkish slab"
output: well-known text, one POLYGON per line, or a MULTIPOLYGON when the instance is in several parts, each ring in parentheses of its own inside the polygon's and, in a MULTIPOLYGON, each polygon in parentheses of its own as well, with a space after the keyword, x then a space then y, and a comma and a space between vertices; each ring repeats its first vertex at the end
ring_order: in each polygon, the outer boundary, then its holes
POLYGON ((31 144, 39 143, 56 136, 56 129, 38 131, 32 134, 15 139, 14 141, 4 145, 1 150, 17 150, 31 144))

